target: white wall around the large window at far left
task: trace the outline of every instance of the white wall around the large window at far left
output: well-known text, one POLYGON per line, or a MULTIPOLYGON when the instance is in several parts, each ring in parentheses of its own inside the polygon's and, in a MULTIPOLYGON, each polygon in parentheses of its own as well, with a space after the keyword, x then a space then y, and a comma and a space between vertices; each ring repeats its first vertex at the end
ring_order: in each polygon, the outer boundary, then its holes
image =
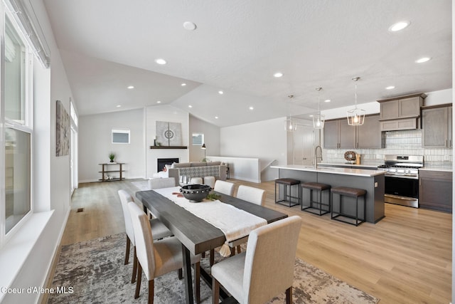
MULTIPOLYGON (((40 82, 36 83, 34 88, 36 98, 33 162, 36 167, 33 174, 33 204, 35 204, 35 211, 39 214, 51 215, 41 231, 36 231, 38 226, 31 227, 38 236, 28 239, 26 245, 31 248, 31 253, 26 256, 26 259, 10 261, 20 263, 20 270, 16 273, 14 281, 8 286, 11 288, 45 286, 46 277, 70 210, 70 157, 69 155, 55 156, 55 100, 61 100, 65 110, 69 112, 69 100, 72 93, 43 1, 37 0, 31 1, 31 3, 33 3, 33 10, 40 21, 51 51, 50 70, 38 65, 34 70, 34 76, 39 76, 40 82)), ((48 217, 43 216, 43 218, 48 217)), ((11 243, 6 243, 2 250, 5 248, 15 250, 11 243)), ((1 274, 1 276, 4 275, 5 273, 1 274)), ((4 295, 2 303, 37 303, 39 297, 38 294, 9 293, 4 295)))

